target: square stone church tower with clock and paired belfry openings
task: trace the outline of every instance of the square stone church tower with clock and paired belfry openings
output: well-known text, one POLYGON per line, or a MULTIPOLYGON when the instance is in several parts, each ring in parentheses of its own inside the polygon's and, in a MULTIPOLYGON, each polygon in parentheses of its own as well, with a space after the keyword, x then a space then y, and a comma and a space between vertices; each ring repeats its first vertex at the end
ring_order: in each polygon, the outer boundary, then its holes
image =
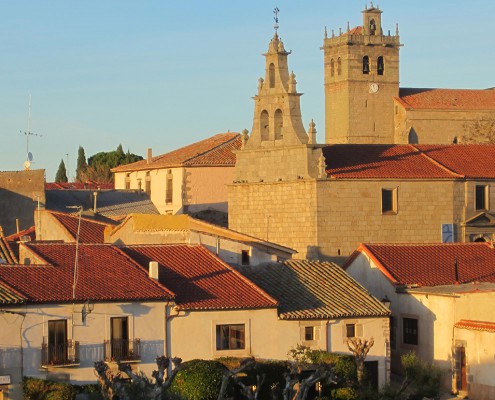
POLYGON ((325 32, 326 143, 394 143, 400 46, 398 28, 384 34, 382 11, 373 4, 362 26, 325 32))

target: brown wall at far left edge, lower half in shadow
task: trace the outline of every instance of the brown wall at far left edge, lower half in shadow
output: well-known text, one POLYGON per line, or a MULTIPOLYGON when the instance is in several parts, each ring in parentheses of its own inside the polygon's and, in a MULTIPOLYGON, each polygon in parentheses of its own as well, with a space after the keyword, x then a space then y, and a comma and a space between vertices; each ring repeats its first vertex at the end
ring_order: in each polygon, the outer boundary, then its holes
POLYGON ((34 225, 34 210, 45 207, 45 170, 0 172, 0 225, 5 235, 34 225))

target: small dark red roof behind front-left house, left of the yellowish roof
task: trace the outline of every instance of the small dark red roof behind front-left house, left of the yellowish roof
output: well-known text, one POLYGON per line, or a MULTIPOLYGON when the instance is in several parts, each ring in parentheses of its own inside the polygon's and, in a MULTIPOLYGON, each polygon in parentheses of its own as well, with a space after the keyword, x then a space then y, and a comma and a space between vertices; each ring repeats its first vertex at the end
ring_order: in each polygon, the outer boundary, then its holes
MULTIPOLYGON (((58 212, 50 212, 60 224, 66 229, 70 236, 76 240, 79 227, 79 217, 58 212)), ((79 243, 104 243, 105 228, 115 226, 117 223, 103 223, 81 217, 81 227, 79 230, 79 243)))

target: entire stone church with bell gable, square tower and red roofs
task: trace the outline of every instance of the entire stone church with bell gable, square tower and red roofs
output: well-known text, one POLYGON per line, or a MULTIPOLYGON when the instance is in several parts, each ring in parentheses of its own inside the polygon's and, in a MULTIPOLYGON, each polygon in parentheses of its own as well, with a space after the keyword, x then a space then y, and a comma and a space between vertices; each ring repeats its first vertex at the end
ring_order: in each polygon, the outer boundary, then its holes
POLYGON ((495 119, 495 90, 399 88, 398 29, 382 11, 325 34, 325 144, 306 131, 277 28, 228 187, 229 228, 298 258, 345 260, 362 242, 494 238, 495 146, 457 144, 495 119))

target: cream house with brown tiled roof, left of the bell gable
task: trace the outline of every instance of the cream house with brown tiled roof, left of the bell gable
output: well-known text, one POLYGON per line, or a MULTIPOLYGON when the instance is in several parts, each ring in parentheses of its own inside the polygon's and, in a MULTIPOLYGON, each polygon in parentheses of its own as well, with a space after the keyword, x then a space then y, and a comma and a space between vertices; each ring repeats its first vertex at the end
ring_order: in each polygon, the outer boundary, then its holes
POLYGON ((145 192, 160 214, 227 211, 238 133, 222 133, 156 157, 112 169, 116 189, 145 192))

